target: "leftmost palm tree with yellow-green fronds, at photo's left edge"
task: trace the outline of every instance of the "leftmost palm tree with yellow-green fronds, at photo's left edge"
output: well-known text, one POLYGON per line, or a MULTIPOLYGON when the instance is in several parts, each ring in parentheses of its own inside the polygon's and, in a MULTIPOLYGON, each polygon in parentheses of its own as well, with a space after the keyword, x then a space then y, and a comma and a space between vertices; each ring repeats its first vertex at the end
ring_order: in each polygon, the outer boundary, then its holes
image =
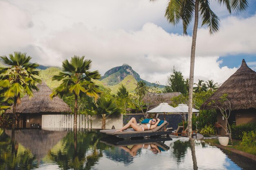
POLYGON ((38 91, 36 83, 41 83, 40 79, 34 77, 39 72, 36 71, 36 67, 39 65, 36 63, 30 63, 30 56, 26 53, 14 52, 7 56, 2 56, 2 60, 9 66, 6 68, 0 68, 0 86, 6 88, 4 97, 13 98, 13 119, 12 128, 16 127, 16 107, 20 104, 20 95, 27 94, 29 97, 33 97, 33 89, 38 91))

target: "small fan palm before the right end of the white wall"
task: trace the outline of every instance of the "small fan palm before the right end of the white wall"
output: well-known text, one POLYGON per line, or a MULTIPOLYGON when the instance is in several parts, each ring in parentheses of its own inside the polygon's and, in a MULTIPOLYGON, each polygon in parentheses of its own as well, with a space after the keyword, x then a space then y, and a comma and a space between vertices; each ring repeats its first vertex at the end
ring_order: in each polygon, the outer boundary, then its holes
POLYGON ((94 114, 102 117, 101 128, 105 129, 106 119, 112 114, 120 114, 121 109, 117 107, 112 98, 101 97, 93 106, 94 114))

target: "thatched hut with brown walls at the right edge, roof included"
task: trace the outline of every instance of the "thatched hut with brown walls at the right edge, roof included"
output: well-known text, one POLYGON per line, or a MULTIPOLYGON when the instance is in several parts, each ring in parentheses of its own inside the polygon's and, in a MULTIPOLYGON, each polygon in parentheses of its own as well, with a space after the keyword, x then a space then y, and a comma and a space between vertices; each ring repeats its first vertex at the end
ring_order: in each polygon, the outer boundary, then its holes
MULTIPOLYGON (((227 99, 231 104, 231 112, 228 118, 229 124, 247 124, 256 122, 256 72, 247 66, 243 60, 240 68, 231 75, 218 90, 202 104, 201 109, 216 109, 211 105, 211 101, 216 102, 220 108, 227 108, 227 102, 218 102, 223 94, 227 94, 227 99)), ((216 110, 218 124, 226 127, 225 118, 220 110, 216 110)), ((228 111, 228 110, 227 110, 228 111)), ((229 112, 228 112, 229 113, 229 112)), ((218 135, 226 135, 224 129, 218 128, 218 135)))

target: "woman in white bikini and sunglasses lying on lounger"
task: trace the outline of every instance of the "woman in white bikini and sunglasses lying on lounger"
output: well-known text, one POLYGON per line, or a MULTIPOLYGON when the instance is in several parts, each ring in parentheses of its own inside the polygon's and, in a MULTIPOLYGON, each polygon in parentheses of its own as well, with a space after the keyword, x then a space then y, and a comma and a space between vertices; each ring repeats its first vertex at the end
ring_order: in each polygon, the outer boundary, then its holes
POLYGON ((123 128, 117 130, 117 132, 123 132, 123 130, 129 128, 130 126, 135 130, 135 131, 144 131, 144 130, 152 130, 157 127, 157 124, 159 123, 160 119, 153 118, 148 122, 148 124, 141 124, 138 125, 137 121, 134 117, 130 119, 128 124, 126 124, 123 128))

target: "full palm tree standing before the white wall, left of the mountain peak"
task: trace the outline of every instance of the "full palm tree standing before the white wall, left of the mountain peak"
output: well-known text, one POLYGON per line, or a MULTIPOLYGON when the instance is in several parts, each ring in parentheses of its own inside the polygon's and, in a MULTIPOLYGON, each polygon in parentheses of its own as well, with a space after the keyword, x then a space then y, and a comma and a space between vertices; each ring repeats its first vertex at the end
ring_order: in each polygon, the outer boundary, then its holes
POLYGON ((98 98, 98 94, 101 92, 99 87, 96 86, 92 79, 100 79, 101 75, 98 71, 90 72, 91 60, 85 60, 85 57, 74 56, 70 62, 64 60, 62 62, 63 72, 58 75, 54 75, 52 80, 62 81, 61 85, 56 87, 51 98, 59 95, 61 98, 63 95, 73 94, 75 96, 74 106, 74 129, 76 129, 77 119, 77 100, 78 97, 88 95, 90 97, 98 98))

